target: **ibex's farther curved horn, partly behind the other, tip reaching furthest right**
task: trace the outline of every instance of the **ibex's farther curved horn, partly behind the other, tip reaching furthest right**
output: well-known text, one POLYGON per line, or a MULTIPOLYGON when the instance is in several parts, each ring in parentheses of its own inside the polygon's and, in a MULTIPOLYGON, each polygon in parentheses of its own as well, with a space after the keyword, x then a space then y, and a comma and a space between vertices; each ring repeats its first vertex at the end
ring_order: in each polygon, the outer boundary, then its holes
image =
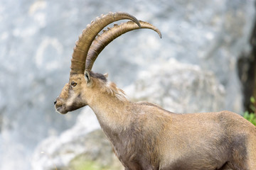
POLYGON ((85 62, 85 69, 92 69, 92 66, 97 59, 97 56, 100 55, 100 52, 102 52, 102 50, 110 42, 112 42, 112 40, 131 30, 136 30, 139 28, 149 28, 156 31, 156 33, 158 33, 159 37, 161 38, 161 32, 158 28, 144 21, 139 21, 139 23, 141 27, 137 26, 137 24, 132 21, 128 21, 127 23, 121 23, 120 25, 115 24, 113 28, 107 28, 108 30, 103 30, 103 33, 101 35, 98 35, 97 38, 93 40, 92 45, 90 46, 90 50, 88 51, 85 62))

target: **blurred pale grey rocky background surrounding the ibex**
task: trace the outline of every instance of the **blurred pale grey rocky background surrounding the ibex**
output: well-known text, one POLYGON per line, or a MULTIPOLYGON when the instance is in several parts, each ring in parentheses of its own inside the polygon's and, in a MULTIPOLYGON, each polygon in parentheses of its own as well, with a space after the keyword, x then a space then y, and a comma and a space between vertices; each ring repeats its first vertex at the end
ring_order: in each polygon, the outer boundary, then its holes
POLYGON ((122 35, 92 69, 132 101, 242 114, 256 95, 253 0, 0 1, 0 169, 122 169, 90 108, 59 115, 53 107, 78 35, 109 11, 163 35, 122 35))

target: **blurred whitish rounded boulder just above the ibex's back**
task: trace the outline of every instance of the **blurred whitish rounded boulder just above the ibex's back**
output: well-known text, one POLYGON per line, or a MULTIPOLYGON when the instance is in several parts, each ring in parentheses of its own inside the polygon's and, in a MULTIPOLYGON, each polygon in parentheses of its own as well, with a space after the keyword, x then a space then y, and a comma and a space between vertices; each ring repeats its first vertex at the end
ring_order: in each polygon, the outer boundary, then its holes
POLYGON ((213 72, 170 59, 141 72, 127 88, 133 101, 150 101, 174 113, 221 111, 225 89, 213 72))

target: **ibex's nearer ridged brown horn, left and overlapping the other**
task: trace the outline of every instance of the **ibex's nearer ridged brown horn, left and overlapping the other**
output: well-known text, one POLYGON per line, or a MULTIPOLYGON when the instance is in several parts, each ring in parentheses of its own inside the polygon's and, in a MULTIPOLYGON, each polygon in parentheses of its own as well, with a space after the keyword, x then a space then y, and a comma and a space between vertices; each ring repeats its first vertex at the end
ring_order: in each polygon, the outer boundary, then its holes
POLYGON ((74 52, 71 59, 71 74, 84 74, 85 72, 85 61, 87 57, 87 52, 98 33, 105 28, 105 26, 113 23, 114 21, 119 21, 122 19, 129 19, 137 23, 140 27, 140 23, 134 16, 129 15, 129 13, 107 13, 107 15, 102 15, 97 17, 95 21, 92 21, 90 25, 87 25, 85 30, 82 30, 82 34, 79 36, 79 40, 75 42, 74 52))

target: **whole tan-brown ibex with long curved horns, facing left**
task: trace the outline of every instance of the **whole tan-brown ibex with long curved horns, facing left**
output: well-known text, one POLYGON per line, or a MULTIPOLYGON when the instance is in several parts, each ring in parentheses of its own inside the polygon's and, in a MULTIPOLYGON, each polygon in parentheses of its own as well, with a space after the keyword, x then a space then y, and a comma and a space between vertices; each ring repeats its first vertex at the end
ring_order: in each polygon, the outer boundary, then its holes
POLYGON ((176 114, 148 102, 129 101, 124 91, 91 71, 97 55, 123 33, 149 28, 128 13, 108 13, 82 31, 75 44, 68 84, 56 98, 59 113, 90 106, 125 169, 256 169, 256 128, 242 116, 176 114), (100 31, 114 21, 129 19, 100 31))

